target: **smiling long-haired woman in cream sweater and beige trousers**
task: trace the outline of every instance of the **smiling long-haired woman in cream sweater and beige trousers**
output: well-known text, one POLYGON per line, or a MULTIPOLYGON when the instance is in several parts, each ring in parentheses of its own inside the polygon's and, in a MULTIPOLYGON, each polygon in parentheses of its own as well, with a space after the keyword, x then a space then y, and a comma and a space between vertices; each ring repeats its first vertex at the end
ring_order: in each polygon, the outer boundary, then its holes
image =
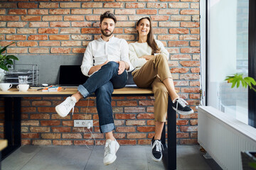
POLYGON ((193 110, 176 94, 168 64, 169 52, 159 40, 154 40, 151 19, 139 19, 136 29, 139 40, 129 44, 129 59, 135 68, 132 76, 138 87, 152 88, 154 92, 155 134, 151 140, 152 159, 160 162, 163 149, 161 132, 166 121, 168 95, 173 101, 174 110, 179 114, 188 115, 193 110))

